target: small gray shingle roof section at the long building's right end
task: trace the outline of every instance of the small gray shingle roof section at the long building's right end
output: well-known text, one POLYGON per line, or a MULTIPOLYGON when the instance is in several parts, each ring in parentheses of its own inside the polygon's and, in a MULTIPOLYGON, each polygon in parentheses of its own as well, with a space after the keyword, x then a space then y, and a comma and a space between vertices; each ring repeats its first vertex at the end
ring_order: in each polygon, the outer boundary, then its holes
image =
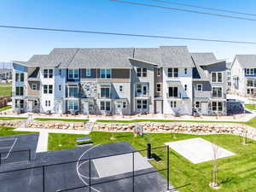
POLYGON ((190 53, 193 61, 200 66, 208 65, 209 63, 218 62, 213 53, 190 53))

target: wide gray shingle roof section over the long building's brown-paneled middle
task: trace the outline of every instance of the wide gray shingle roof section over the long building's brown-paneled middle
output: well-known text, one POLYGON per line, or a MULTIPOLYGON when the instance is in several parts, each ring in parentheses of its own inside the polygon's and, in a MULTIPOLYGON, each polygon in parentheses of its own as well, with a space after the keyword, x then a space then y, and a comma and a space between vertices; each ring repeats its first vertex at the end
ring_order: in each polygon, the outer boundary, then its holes
POLYGON ((131 68, 128 58, 133 56, 133 50, 133 48, 79 49, 68 67, 131 68))

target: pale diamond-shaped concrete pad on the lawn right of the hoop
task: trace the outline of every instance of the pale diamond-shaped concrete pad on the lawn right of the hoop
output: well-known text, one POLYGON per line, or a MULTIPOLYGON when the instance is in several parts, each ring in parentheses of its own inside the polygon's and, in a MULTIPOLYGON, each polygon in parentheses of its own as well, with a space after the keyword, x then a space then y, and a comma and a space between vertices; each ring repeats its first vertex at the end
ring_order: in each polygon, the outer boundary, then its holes
POLYGON ((202 138, 186 139, 165 144, 194 164, 212 160, 213 148, 218 148, 218 159, 235 155, 234 153, 218 147, 218 145, 210 143, 202 138))

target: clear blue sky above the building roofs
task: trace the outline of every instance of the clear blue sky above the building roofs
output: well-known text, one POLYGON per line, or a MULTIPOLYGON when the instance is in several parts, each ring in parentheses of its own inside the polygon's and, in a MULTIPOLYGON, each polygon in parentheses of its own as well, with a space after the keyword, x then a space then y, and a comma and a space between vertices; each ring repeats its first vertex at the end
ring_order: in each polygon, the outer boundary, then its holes
MULTIPOLYGON (((149 0, 133 1, 151 3, 149 0)), ((176 1, 256 14, 256 1, 254 0, 176 1)), ((171 4, 162 5, 190 9, 171 4)), ((254 18, 256 19, 256 16, 254 18)), ((232 20, 210 15, 138 7, 113 3, 108 0, 1 0, 0 25, 55 27, 256 42, 256 21, 232 20)), ((256 54, 256 45, 171 39, 127 38, 3 28, 0 28, 0 37, 0 61, 26 61, 34 54, 49 54, 49 51, 55 47, 188 45, 190 51, 214 52, 218 59, 227 58, 230 61, 236 54, 256 54)))

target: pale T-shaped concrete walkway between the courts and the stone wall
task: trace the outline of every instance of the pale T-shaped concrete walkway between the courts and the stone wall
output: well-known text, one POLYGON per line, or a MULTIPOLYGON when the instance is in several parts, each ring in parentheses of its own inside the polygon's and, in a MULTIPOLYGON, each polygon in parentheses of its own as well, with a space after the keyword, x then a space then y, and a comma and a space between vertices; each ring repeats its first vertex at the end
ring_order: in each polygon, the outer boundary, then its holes
POLYGON ((39 128, 17 128, 15 131, 34 131, 39 132, 38 138, 38 152, 48 151, 48 135, 49 133, 68 133, 68 134, 84 134, 88 135, 90 131, 80 130, 53 130, 53 129, 39 129, 39 128))

